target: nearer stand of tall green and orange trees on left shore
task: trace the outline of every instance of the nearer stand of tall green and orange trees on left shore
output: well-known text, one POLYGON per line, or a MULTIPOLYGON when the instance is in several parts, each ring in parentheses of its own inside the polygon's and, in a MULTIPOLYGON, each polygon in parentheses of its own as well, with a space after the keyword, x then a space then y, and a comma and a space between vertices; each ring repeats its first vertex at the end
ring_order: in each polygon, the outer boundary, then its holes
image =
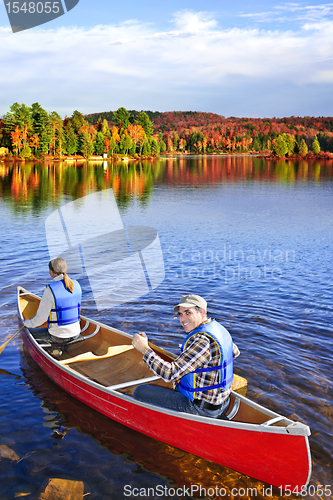
POLYGON ((115 153, 146 157, 160 153, 152 122, 144 111, 133 117, 119 108, 111 123, 99 118, 92 124, 77 110, 63 120, 38 102, 30 107, 16 102, 10 107, 0 120, 0 147, 7 148, 9 156, 20 158, 76 154, 90 158, 115 153))

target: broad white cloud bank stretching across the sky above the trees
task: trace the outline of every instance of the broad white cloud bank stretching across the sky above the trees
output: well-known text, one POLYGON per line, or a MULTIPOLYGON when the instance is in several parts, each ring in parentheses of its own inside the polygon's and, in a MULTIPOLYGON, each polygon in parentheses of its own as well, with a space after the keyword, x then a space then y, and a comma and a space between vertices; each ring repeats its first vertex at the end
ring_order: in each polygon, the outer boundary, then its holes
POLYGON ((38 101, 63 115, 121 105, 203 109, 200 96, 235 85, 243 85, 245 100, 249 83, 333 83, 332 21, 308 22, 297 32, 222 29, 209 13, 184 11, 168 31, 133 20, 91 29, 1 29, 0 46, 0 115, 15 101, 38 101))

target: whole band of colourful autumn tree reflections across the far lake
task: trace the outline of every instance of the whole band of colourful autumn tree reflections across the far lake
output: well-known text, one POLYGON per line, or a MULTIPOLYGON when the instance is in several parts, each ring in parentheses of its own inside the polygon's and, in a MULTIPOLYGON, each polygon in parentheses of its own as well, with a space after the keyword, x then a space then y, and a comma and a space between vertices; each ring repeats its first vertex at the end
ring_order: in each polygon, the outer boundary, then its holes
POLYGON ((158 184, 205 186, 224 182, 268 181, 295 184, 332 180, 332 161, 265 160, 251 156, 179 156, 130 164, 2 163, 0 196, 15 211, 39 212, 70 199, 112 188, 118 206, 137 198, 147 203, 158 184))

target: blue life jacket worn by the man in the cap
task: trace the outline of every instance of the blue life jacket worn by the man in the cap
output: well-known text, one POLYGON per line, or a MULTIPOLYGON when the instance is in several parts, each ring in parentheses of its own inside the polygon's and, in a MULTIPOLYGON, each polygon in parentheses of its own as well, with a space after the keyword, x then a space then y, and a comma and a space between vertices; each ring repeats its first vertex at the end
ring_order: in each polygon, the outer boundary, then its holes
POLYGON ((214 339, 219 346, 220 356, 218 366, 208 368, 199 368, 187 375, 184 375, 179 381, 178 389, 191 401, 194 400, 194 394, 201 391, 210 391, 211 389, 228 389, 233 380, 233 342, 230 333, 224 326, 220 325, 215 319, 210 323, 198 326, 184 340, 181 352, 184 351, 188 342, 197 333, 204 333, 207 337, 214 339), (219 371, 219 383, 206 387, 195 387, 195 373, 206 373, 219 371))

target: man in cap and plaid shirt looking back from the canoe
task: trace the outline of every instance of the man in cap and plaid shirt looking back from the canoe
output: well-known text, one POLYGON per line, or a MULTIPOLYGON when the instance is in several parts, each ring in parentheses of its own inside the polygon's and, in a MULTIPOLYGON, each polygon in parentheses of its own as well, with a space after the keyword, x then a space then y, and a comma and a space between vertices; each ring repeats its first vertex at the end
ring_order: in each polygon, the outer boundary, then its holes
POLYGON ((239 350, 229 332, 207 318, 207 302, 199 295, 183 296, 174 311, 188 334, 174 361, 164 361, 150 349, 144 332, 135 334, 132 344, 155 375, 176 382, 175 390, 141 385, 134 397, 171 410, 218 418, 229 406, 233 359, 239 350))

